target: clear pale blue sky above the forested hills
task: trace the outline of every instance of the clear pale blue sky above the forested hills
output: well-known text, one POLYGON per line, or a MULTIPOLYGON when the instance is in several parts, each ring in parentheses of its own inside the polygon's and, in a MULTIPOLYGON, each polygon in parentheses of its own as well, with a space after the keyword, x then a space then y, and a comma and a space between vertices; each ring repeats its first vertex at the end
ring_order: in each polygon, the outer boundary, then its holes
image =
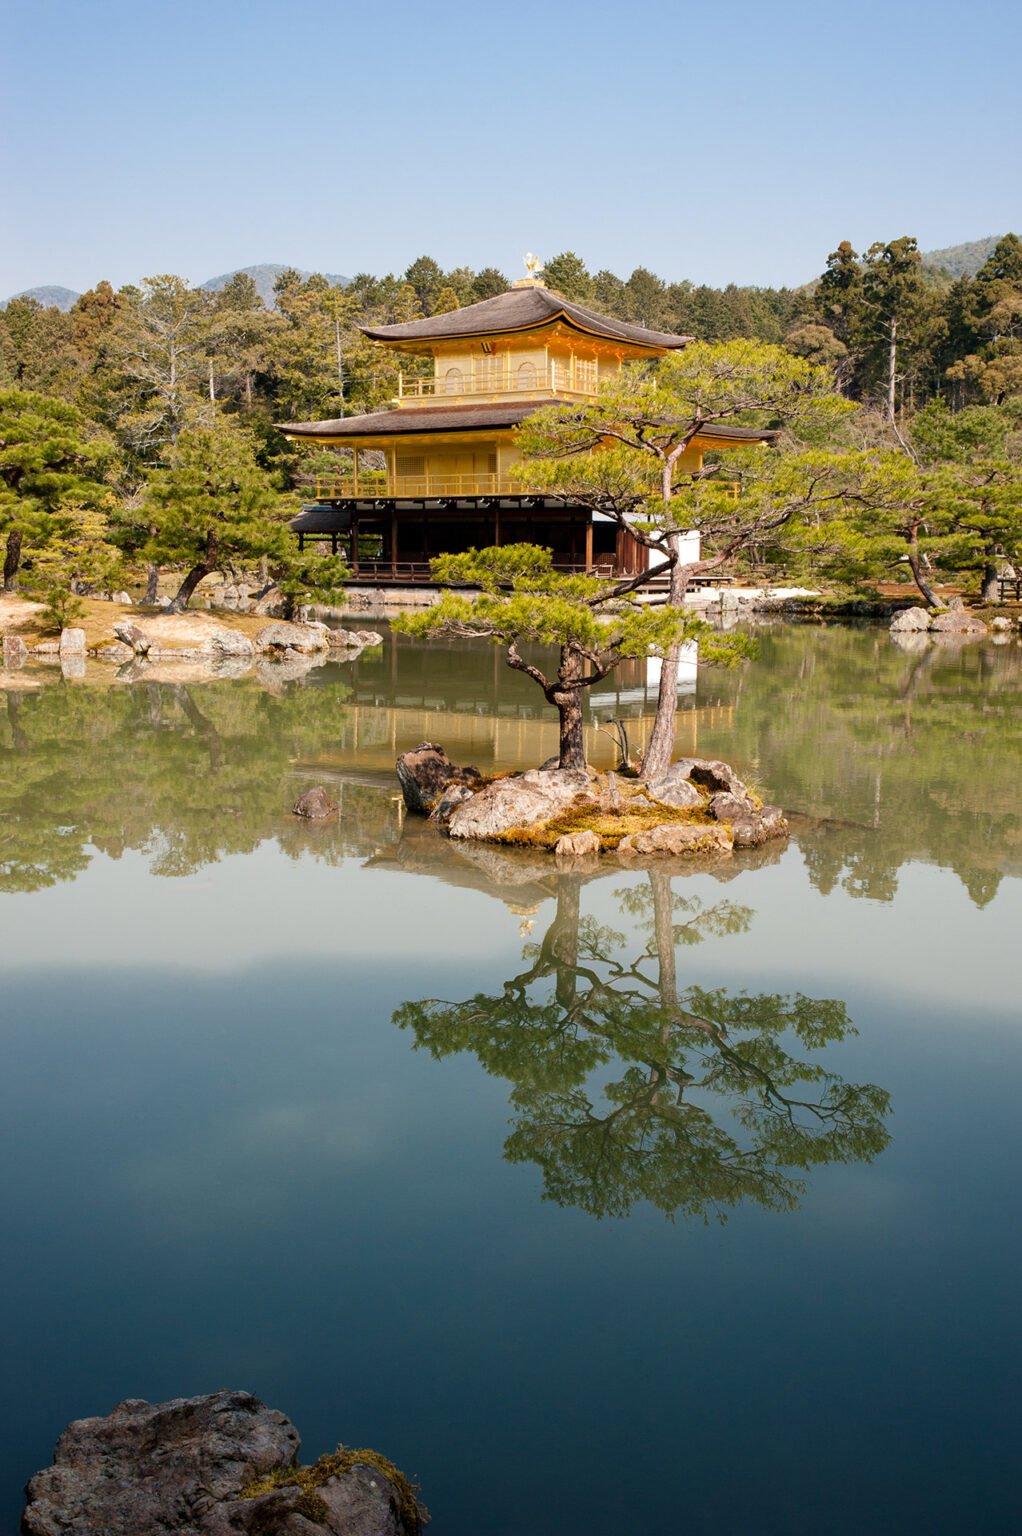
POLYGON ((5 0, 0 295, 257 261, 799 283, 1022 226, 1014 0, 5 0))

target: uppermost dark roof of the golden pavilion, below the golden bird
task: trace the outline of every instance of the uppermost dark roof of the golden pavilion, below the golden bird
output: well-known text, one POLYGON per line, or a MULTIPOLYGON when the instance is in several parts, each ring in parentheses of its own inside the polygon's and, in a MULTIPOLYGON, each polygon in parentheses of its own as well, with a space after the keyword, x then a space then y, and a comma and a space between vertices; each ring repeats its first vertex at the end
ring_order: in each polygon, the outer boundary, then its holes
POLYGON ((630 326, 610 315, 596 315, 595 310, 572 304, 570 300, 561 298, 559 293, 546 287, 513 287, 495 298, 484 298, 479 304, 453 309, 447 315, 430 315, 427 319, 410 319, 400 326, 363 326, 361 329, 373 341, 433 343, 460 336, 535 330, 538 326, 553 324, 555 319, 562 319, 572 329, 587 332, 590 336, 602 336, 606 341, 629 341, 633 346, 649 347, 650 352, 684 347, 685 343, 692 341, 692 336, 675 336, 667 330, 647 330, 644 326, 630 326))

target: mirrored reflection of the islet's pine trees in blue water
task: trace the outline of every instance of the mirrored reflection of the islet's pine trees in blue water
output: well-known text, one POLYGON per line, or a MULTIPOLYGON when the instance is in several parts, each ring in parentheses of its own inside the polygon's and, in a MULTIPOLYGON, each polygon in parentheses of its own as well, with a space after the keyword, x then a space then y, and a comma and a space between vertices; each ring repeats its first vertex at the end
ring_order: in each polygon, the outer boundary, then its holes
POLYGON ((504 1152, 539 1166, 544 1198, 593 1217, 636 1201, 672 1218, 725 1220, 745 1201, 791 1210, 799 1170, 887 1146, 888 1094, 802 1058, 854 1034, 844 1003, 679 986, 678 948, 744 932, 748 908, 676 895, 652 869, 616 892, 649 932, 630 957, 622 934, 581 914, 581 891, 559 876, 553 922, 499 992, 395 1014, 435 1058, 473 1051, 513 1084, 504 1152))

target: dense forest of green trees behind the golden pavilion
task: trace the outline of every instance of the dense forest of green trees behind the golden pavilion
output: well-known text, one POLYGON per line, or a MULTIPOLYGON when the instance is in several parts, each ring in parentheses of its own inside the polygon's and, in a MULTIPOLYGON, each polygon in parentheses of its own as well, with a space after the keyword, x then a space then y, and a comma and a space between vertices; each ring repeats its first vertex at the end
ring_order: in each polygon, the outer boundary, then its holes
MULTIPOLYGON (((592 273, 573 252, 549 261, 546 280, 641 326, 759 339, 827 367, 864 407, 864 441, 868 422, 887 422, 916 465, 1019 458, 1016 235, 997 241, 974 276, 924 266, 902 237, 861 253, 839 243, 802 289, 665 283, 644 267, 629 278, 592 273)), ((244 273, 217 292, 174 275, 120 290, 98 283, 69 312, 12 300, 0 310, 5 588, 26 571, 105 584, 112 561, 151 573, 177 562, 195 576, 234 553, 277 561, 295 591, 326 590, 310 562, 290 568, 290 493, 309 459, 274 422, 386 409, 398 364, 358 327, 443 313, 506 287, 493 267, 444 270, 420 257, 400 275, 358 273, 344 287, 286 270, 272 307, 244 273), (223 484, 209 493, 211 518, 220 501, 200 548, 189 496, 206 468, 223 484)))

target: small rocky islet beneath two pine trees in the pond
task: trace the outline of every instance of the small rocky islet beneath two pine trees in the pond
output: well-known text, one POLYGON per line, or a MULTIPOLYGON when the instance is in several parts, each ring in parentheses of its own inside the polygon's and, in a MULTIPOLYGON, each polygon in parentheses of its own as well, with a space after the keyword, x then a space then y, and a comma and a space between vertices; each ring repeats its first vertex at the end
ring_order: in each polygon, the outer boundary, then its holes
POLYGON ((725 762, 682 757, 661 777, 569 773, 544 763, 484 777, 458 768, 436 742, 397 762, 409 811, 453 839, 546 848, 558 859, 642 854, 727 857, 785 837, 776 805, 764 805, 725 762))

